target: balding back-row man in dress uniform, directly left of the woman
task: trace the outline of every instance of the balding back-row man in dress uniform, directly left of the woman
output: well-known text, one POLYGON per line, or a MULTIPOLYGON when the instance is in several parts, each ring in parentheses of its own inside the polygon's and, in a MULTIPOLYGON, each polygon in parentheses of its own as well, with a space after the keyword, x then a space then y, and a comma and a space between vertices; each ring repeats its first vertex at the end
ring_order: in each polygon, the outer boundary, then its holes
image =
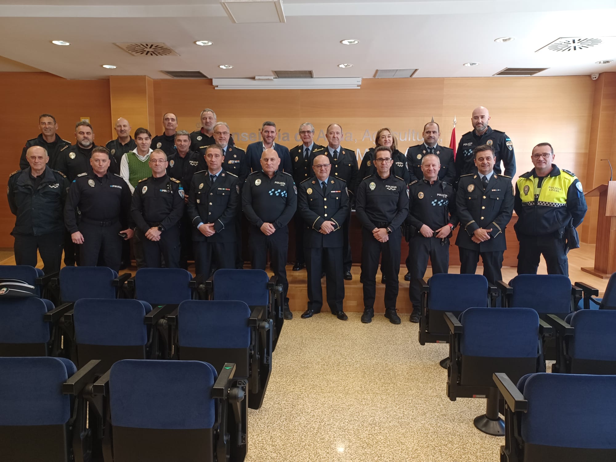
MULTIPOLYGON (((357 157, 355 151, 341 147, 342 141, 342 127, 338 124, 330 124, 328 126, 325 137, 327 139, 327 147, 325 148, 325 155, 330 158, 331 162, 331 174, 341 180, 346 181, 347 188, 349 190, 349 216, 344 220, 342 224, 342 236, 344 237, 344 244, 342 245, 342 259, 344 270, 344 278, 347 281, 352 280, 351 266, 353 259, 351 257, 351 242, 349 241, 349 222, 351 221, 351 207, 354 203, 355 187, 357 186, 359 167, 357 166, 357 157)), ((319 153, 313 153, 312 156, 319 153)), ((314 163, 314 162, 313 162, 314 163)))

